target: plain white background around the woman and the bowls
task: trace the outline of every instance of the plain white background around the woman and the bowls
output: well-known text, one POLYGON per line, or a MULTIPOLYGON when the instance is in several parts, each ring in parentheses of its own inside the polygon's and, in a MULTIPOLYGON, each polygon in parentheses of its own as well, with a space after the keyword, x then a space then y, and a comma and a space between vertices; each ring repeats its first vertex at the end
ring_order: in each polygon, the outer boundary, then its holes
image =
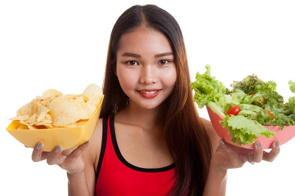
MULTIPOLYGON (((287 101, 295 80, 294 3, 248 1, 77 1, 0 2, 0 195, 65 196, 66 172, 31 161, 31 148, 5 128, 16 110, 43 91, 81 93, 102 86, 113 25, 134 4, 156 4, 171 13, 183 32, 192 81, 197 71, 229 87, 255 73, 277 82, 287 101), (193 3, 193 4, 192 4, 193 3)), ((294 96, 294 95, 293 95, 294 96)), ((207 111, 199 109, 207 118, 207 111)), ((294 196, 295 139, 281 146, 272 163, 246 163, 228 173, 227 196, 294 196)))

